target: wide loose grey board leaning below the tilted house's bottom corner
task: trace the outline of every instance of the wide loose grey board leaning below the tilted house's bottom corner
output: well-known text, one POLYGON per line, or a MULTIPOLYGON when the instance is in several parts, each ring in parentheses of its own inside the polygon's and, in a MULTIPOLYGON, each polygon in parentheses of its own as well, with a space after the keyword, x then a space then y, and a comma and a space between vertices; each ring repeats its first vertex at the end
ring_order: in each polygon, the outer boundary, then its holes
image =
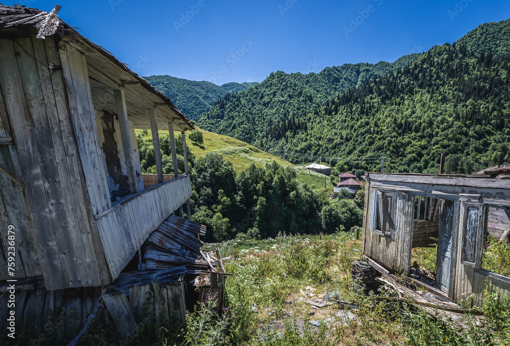
POLYGON ((112 315, 117 329, 123 337, 133 335, 136 330, 136 321, 127 296, 124 292, 114 292, 103 295, 106 309, 112 315))

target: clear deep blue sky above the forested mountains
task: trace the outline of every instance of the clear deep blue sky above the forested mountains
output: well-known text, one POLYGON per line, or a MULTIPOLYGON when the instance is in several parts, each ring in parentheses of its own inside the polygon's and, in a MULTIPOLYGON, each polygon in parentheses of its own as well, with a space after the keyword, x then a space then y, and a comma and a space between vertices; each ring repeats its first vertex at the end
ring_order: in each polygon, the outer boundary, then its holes
POLYGON ((141 76, 219 85, 261 82, 277 70, 319 72, 344 63, 391 62, 451 43, 484 22, 510 18, 507 0, 18 3, 45 11, 62 5, 63 20, 141 76))

